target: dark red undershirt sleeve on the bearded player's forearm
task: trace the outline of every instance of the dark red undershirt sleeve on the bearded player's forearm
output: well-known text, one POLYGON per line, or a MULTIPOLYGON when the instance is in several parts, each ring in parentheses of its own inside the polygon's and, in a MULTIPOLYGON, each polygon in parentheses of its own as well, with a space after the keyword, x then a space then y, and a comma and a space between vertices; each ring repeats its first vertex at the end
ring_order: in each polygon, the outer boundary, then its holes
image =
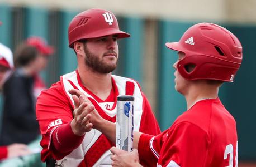
POLYGON ((76 149, 83 142, 84 135, 75 135, 71 129, 70 122, 54 130, 53 136, 51 136, 52 144, 50 149, 54 148, 54 150, 60 153, 68 153, 76 149))

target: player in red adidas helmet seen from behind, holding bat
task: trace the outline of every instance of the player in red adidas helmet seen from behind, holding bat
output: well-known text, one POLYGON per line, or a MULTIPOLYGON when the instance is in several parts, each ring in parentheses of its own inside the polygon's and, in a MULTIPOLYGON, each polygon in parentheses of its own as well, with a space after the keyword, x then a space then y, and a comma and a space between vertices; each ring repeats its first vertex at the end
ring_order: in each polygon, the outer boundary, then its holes
MULTIPOLYGON (((238 166, 236 122, 218 97, 219 87, 225 81, 233 82, 241 65, 238 38, 216 24, 199 23, 190 27, 179 42, 166 46, 178 51, 173 64, 175 89, 184 95, 187 111, 157 136, 135 131, 134 148, 138 150, 127 153, 111 148, 111 165, 141 166, 140 157, 158 167, 238 166)), ((80 101, 88 104, 87 100, 80 101)), ((115 124, 101 119, 89 106, 83 110, 88 120, 85 123, 115 141, 115 124)))

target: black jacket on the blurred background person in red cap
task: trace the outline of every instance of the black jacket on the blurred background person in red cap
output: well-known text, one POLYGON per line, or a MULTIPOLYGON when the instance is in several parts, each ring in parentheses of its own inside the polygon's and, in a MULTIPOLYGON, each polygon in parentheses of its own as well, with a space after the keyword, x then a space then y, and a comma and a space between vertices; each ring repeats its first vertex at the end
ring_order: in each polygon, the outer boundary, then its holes
POLYGON ((34 77, 16 70, 3 86, 4 104, 0 145, 30 143, 39 135, 33 95, 34 77))

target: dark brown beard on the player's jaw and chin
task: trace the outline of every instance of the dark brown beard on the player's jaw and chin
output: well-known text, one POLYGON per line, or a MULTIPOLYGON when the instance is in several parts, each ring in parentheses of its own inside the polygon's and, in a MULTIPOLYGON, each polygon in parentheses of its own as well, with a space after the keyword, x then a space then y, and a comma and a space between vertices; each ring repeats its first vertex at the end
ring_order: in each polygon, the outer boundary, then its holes
MULTIPOLYGON (((106 63, 104 60, 100 60, 97 55, 90 52, 86 46, 84 46, 84 53, 86 55, 86 58, 84 59, 84 62, 86 65, 91 68, 92 71, 98 72, 98 73, 110 73, 113 70, 116 69, 117 61, 116 63, 106 63)), ((109 51, 107 53, 115 53, 115 51, 109 51)), ((117 55, 117 54, 116 54, 117 55)))

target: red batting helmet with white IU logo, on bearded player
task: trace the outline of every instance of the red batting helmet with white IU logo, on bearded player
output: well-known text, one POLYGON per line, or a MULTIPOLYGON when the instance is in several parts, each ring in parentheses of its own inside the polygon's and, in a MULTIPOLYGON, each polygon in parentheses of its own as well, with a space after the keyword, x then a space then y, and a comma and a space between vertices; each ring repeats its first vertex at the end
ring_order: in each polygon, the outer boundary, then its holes
POLYGON ((130 37, 120 31, 117 19, 113 13, 104 9, 89 9, 75 16, 68 27, 69 47, 73 43, 86 38, 96 38, 107 35, 118 35, 118 38, 130 37))

